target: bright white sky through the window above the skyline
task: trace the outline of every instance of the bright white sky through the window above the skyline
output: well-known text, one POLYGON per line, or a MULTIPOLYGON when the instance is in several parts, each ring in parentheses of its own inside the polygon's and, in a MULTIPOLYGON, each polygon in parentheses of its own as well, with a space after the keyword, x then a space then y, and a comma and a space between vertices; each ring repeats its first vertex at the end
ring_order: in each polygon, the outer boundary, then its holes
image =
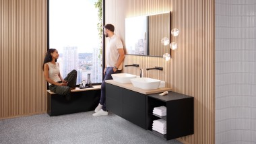
POLYGON ((79 52, 99 47, 95 1, 49 0, 50 48, 61 53, 64 46, 77 46, 79 52))

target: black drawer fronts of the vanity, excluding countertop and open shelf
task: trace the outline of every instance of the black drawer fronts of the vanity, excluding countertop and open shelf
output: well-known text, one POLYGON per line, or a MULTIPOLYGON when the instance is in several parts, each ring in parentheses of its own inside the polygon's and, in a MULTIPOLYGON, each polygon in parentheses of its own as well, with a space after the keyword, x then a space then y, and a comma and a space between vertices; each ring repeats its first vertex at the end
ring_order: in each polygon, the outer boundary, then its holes
POLYGON ((146 95, 106 83, 106 108, 146 129, 146 95))

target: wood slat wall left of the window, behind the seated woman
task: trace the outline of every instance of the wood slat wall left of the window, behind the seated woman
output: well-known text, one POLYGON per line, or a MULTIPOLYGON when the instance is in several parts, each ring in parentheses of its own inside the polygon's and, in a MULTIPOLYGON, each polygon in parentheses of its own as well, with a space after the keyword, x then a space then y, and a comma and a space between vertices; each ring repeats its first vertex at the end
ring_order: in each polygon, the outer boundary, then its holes
POLYGON ((46 0, 0 0, 0 119, 46 112, 46 0))

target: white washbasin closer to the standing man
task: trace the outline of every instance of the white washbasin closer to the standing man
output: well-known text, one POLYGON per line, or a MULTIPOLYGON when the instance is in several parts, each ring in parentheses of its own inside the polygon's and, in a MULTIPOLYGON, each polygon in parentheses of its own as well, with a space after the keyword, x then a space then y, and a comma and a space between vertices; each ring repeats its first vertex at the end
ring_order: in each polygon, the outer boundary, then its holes
POLYGON ((113 80, 118 83, 131 83, 130 79, 137 77, 137 75, 131 75, 129 73, 116 73, 111 76, 113 77, 113 80))

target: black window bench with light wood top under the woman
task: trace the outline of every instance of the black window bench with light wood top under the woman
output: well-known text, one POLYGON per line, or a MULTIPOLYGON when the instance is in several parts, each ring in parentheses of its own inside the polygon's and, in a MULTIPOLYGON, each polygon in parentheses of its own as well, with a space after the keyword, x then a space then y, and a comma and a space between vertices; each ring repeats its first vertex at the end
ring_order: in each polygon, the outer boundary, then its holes
POLYGON ((75 112, 87 112, 94 110, 100 101, 100 85, 92 85, 92 88, 71 90, 71 100, 47 90, 47 113, 49 116, 71 114, 75 112))

